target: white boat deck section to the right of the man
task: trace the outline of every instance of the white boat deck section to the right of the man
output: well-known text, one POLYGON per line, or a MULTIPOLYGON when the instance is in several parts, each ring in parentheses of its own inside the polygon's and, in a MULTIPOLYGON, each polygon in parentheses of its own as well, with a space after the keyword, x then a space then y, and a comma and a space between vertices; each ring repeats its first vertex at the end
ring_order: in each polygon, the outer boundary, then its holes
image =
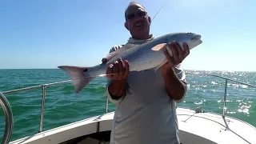
MULTIPOLYGON (((194 113, 194 110, 178 109, 178 126, 182 143, 197 143, 198 136, 213 143, 256 143, 256 128, 236 118, 226 117, 227 126, 220 114, 194 113), (185 133, 195 134, 187 138, 185 133)), ((200 141, 199 141, 200 142, 200 141)), ((203 142, 207 143, 207 142, 203 142)), ((209 142, 208 142, 209 143, 209 142)))

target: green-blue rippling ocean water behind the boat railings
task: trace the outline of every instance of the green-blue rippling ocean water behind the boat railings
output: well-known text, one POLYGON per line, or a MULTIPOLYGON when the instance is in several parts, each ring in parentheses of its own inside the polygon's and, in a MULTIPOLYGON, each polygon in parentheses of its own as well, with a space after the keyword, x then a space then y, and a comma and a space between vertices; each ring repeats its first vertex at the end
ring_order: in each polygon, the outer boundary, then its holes
MULTIPOLYGON (((256 72, 195 71, 217 74, 241 82, 256 85, 256 72)), ((0 91, 37 86, 50 82, 69 80, 68 75, 58 69, 51 70, 0 70, 0 91)), ((192 110, 198 106, 206 112, 222 114, 225 80, 202 75, 186 75, 188 91, 183 102, 192 110)), ((43 129, 50 130, 70 122, 90 118, 105 113, 105 78, 94 79, 79 94, 74 94, 74 86, 66 83, 46 88, 46 104, 43 117, 43 129)), ((14 131, 11 141, 38 133, 42 89, 27 90, 16 94, 6 94, 14 114, 14 131)), ((242 119, 256 126, 256 89, 235 82, 228 82, 226 115, 242 119)), ((109 111, 114 105, 109 102, 109 111)), ((4 114, 0 108, 0 142, 5 127, 4 114)))

